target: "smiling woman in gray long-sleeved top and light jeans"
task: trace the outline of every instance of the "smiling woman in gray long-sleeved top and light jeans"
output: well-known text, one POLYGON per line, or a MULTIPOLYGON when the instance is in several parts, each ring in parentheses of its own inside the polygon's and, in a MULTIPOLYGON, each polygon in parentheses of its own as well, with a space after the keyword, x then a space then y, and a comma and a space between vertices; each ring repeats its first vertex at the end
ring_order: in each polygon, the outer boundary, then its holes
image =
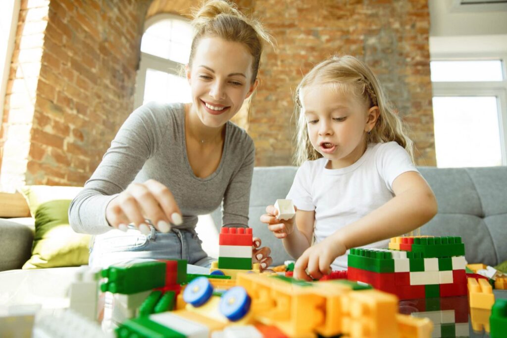
MULTIPOLYGON (((97 235, 90 265, 186 259, 207 267, 214 259, 195 232, 197 216, 222 204, 223 226, 248 226, 255 149, 230 119, 258 85, 269 35, 226 1, 204 4, 193 25, 192 102, 136 109, 70 205, 73 229, 97 235)), ((261 268, 269 255, 253 252, 261 268)))

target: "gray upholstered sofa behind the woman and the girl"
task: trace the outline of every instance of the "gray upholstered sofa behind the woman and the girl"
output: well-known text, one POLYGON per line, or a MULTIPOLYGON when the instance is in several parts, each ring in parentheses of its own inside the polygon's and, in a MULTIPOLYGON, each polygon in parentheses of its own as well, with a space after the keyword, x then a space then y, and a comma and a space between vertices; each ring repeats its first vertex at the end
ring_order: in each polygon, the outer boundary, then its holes
MULTIPOLYGON (((507 260, 507 167, 419 170, 439 203, 437 216, 421 228, 421 234, 460 236, 469 263, 494 266, 507 260)), ((291 258, 259 218, 266 205, 285 197, 296 171, 295 166, 276 166, 256 167, 253 173, 250 226, 271 247, 274 265, 291 258)), ((220 210, 212 217, 220 227, 220 210)), ((32 230, 26 225, 0 219, 0 271, 20 269, 30 257, 32 240, 32 230)))

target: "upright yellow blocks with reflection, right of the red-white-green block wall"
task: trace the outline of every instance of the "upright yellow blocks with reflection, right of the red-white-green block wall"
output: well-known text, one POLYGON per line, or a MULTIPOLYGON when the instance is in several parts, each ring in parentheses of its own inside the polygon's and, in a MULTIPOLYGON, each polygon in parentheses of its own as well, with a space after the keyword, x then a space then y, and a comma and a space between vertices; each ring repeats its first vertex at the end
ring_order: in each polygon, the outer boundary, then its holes
POLYGON ((468 278, 468 303, 474 331, 481 332, 484 329, 489 332, 489 317, 495 296, 491 284, 486 279, 468 278))

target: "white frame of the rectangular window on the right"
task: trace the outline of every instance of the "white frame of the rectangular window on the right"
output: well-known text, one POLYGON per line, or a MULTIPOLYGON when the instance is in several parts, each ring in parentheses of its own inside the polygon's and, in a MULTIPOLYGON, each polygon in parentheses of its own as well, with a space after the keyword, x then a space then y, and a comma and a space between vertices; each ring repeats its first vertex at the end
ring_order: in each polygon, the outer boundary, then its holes
POLYGON ((507 165, 507 54, 491 53, 433 53, 431 61, 484 61, 500 60, 502 81, 431 82, 433 97, 449 96, 494 96, 497 98, 498 127, 502 165, 507 165))

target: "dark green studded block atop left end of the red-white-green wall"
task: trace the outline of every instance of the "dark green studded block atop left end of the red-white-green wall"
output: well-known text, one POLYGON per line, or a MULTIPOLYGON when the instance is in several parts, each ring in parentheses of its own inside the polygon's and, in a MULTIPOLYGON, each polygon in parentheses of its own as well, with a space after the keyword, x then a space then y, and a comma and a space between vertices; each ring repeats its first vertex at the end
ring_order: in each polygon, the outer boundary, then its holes
POLYGON ((348 266, 373 272, 394 272, 391 252, 369 249, 350 249, 348 266))

